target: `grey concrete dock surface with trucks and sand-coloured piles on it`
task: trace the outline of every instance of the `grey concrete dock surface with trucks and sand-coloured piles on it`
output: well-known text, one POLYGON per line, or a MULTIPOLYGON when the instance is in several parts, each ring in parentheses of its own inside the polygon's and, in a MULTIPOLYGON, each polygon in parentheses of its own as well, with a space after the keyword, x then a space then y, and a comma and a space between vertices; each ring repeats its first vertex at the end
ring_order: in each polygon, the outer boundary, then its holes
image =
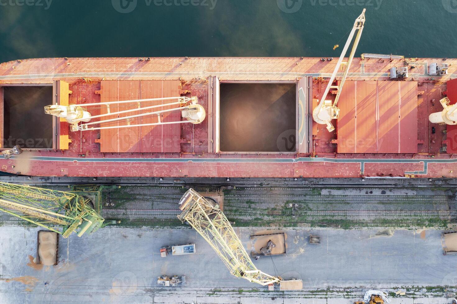
MULTIPOLYGON (((33 262, 37 231, 13 226, 0 229, 2 303, 161 303, 159 299, 167 294, 183 295, 180 303, 192 303, 194 298, 199 299, 194 303, 217 303, 218 297, 232 297, 234 293, 243 301, 244 298, 271 299, 274 295, 261 292, 263 288, 257 284, 232 276, 213 249, 191 229, 111 227, 89 237, 73 235, 59 242, 59 262, 52 267, 33 262), (160 257, 159 248, 169 245, 171 240, 195 243, 196 254, 160 257), (158 286, 157 277, 163 274, 185 274, 186 287, 158 286)), ((441 231, 281 231, 287 234, 287 254, 261 257, 254 262, 266 273, 275 275, 276 267, 280 271, 277 275, 283 278, 303 280, 303 290, 285 298, 315 297, 313 290, 327 288, 331 291, 362 290, 367 286, 444 286, 457 280, 455 257, 442 254, 441 231), (308 244, 309 234, 320 236, 321 243, 308 244)), ((249 250, 250 235, 259 229, 235 228, 235 232, 249 250)))

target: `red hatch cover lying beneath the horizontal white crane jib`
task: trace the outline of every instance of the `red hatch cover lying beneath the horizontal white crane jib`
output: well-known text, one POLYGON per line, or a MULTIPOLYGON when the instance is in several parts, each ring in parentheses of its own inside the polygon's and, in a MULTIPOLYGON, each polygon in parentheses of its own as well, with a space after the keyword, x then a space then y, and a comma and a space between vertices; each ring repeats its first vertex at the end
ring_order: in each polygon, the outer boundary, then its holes
MULTIPOLYGON (((117 100, 137 100, 147 98, 163 98, 180 96, 181 81, 179 80, 103 80, 101 89, 96 93, 101 95, 101 102, 117 100)), ((164 104, 170 101, 142 102, 141 106, 164 104)), ((110 105, 110 111, 122 111, 138 107, 138 104, 110 105)), ((150 111, 165 110, 164 107, 150 111)), ((147 111, 147 110, 146 110, 147 111)), ((101 114, 106 113, 106 107, 101 107, 101 114)), ((139 112, 138 112, 139 113, 139 112)), ((120 114, 120 116, 132 113, 120 114)), ((112 117, 110 117, 112 118, 112 117)), ((179 121, 181 112, 174 111, 161 115, 161 121, 179 121)), ((156 116, 137 117, 129 121, 130 125, 157 122, 156 116)), ((117 123, 125 124, 125 122, 117 123)), ((103 126, 103 124, 101 125, 103 126)), ((110 125, 113 126, 111 123, 110 125)), ((120 129, 100 130, 100 152, 130 152, 130 153, 172 153, 181 152, 181 124, 158 126, 137 126, 120 129)))

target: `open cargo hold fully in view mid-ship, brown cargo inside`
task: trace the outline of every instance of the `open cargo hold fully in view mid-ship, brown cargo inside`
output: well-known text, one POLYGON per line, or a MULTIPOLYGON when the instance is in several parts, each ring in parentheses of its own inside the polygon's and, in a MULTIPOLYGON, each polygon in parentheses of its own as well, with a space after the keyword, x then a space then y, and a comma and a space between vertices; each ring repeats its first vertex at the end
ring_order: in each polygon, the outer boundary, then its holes
POLYGON ((220 151, 295 152, 297 84, 220 84, 220 151))

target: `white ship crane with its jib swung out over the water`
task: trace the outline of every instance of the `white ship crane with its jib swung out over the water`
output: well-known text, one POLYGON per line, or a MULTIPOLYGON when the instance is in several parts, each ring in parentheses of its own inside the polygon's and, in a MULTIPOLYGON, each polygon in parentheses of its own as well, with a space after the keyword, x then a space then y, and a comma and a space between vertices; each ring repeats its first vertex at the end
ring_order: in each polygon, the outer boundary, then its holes
POLYGON ((329 84, 324 91, 324 95, 322 95, 322 99, 319 102, 319 105, 313 110, 313 119, 315 122, 321 125, 327 125, 327 130, 329 132, 335 130, 335 127, 332 125, 331 120, 337 119, 338 115, 340 114, 340 109, 337 107, 338 100, 340 99, 341 89, 345 83, 347 73, 349 72, 349 68, 351 67, 352 59, 354 58, 354 54, 356 53, 357 45, 359 44, 360 37, 363 31, 363 26, 365 24, 365 10, 363 9, 360 16, 357 17, 356 21, 354 22, 354 26, 352 27, 351 33, 347 38, 346 44, 343 48, 343 52, 341 52, 340 59, 336 63, 335 70, 330 77, 329 84), (347 49, 351 44, 352 38, 354 34, 357 32, 356 39, 354 41, 354 45, 352 46, 351 54, 349 55, 347 63, 343 63, 343 59, 346 55, 347 49), (335 80, 336 74, 341 67, 341 64, 346 64, 343 77, 340 80, 338 85, 333 85, 333 81, 335 80), (337 90, 335 101, 332 103, 331 100, 326 100, 327 94, 329 94, 330 89, 337 90))

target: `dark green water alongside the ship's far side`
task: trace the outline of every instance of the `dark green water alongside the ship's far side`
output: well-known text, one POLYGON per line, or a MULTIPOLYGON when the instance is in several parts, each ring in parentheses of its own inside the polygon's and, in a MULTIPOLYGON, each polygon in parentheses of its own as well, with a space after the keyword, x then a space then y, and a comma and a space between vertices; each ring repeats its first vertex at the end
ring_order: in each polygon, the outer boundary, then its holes
POLYGON ((333 51, 333 45, 344 44, 364 7, 367 22, 357 56, 457 57, 457 0, 49 1, 0 0, 0 62, 105 56, 337 57, 341 48, 333 51), (126 11, 133 11, 118 12, 121 1, 126 11), (284 12, 284 1, 297 11, 284 12))

